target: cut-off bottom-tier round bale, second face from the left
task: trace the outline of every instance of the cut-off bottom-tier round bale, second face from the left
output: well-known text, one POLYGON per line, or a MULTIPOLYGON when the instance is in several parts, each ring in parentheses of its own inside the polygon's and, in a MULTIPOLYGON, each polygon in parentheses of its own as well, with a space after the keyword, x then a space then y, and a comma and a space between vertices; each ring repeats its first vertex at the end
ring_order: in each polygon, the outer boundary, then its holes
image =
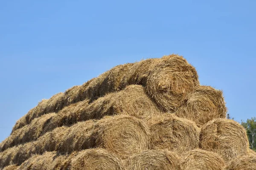
POLYGON ((181 170, 180 159, 168 150, 145 150, 126 161, 127 170, 181 170))

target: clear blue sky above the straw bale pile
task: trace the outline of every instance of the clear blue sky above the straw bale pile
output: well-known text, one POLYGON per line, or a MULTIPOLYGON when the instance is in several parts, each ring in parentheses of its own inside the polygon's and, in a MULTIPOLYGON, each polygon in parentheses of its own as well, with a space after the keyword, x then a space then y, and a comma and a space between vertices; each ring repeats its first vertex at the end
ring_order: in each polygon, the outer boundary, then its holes
POLYGON ((0 2, 0 141, 41 99, 115 65, 183 55, 231 117, 256 116, 256 1, 0 2))

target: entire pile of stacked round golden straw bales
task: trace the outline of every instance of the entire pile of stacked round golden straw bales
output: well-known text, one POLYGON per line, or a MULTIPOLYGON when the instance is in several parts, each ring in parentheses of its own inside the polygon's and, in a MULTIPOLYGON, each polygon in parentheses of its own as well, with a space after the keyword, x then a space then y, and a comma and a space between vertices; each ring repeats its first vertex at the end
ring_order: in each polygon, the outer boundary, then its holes
POLYGON ((226 112, 222 91, 200 85, 181 56, 118 65, 20 118, 0 143, 0 169, 254 170, 226 112))

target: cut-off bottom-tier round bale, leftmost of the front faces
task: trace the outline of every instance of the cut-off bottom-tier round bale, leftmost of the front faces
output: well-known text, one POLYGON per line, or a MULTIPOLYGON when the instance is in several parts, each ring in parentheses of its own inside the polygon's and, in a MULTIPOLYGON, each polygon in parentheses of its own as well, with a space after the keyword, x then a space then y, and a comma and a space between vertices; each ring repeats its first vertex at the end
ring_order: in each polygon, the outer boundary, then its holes
POLYGON ((71 159, 70 170, 124 170, 122 161, 104 149, 88 149, 71 159))

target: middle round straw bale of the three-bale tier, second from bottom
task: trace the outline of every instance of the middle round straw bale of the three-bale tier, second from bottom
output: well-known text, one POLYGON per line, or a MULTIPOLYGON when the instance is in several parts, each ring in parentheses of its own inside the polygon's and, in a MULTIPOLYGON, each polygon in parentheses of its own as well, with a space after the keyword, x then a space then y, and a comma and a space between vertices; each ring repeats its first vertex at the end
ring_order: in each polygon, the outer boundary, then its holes
POLYGON ((148 121, 150 148, 183 153, 199 147, 199 128, 188 119, 171 113, 155 116, 148 121))

